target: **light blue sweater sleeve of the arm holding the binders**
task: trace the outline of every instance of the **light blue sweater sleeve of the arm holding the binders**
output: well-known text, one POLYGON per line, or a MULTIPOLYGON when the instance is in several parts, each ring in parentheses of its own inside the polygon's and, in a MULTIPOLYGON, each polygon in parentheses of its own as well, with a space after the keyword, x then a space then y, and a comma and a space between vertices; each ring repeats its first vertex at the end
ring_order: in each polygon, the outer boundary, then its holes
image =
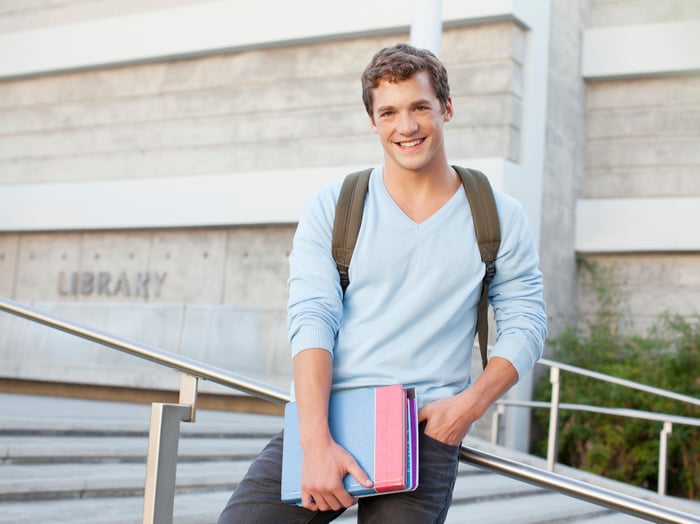
POLYGON ((289 257, 288 328, 292 357, 310 348, 333 353, 342 318, 342 290, 331 254, 339 185, 306 204, 289 257))

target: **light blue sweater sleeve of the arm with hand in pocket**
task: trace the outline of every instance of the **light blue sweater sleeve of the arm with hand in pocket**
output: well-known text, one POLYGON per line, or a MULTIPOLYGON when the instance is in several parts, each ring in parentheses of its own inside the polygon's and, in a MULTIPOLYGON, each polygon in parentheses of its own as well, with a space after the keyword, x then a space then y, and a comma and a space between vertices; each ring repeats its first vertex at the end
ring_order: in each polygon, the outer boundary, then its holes
POLYGON ((492 356, 509 360, 522 377, 542 356, 547 336, 542 273, 522 206, 506 195, 498 198, 502 238, 489 287, 496 321, 492 356))

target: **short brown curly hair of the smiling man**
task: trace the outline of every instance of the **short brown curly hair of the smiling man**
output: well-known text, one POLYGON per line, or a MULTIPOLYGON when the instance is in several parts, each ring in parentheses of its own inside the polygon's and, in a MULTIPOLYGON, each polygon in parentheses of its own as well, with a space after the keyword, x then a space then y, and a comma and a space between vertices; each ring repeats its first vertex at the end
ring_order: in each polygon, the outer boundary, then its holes
POLYGON ((362 102, 370 118, 372 91, 382 80, 402 82, 422 71, 428 73, 435 95, 444 110, 450 97, 447 70, 432 52, 409 44, 396 44, 378 51, 362 73, 362 102))

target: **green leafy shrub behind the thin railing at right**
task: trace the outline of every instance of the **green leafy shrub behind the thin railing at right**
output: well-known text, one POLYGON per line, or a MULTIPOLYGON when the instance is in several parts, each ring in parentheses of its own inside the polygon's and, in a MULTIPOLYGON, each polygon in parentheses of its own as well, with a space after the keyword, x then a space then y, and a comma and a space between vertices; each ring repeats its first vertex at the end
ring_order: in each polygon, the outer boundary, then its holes
MULTIPOLYGON (((658 317, 647 336, 620 333, 616 299, 610 299, 608 272, 588 266, 598 286, 600 308, 586 329, 567 328, 549 341, 554 360, 642 384, 700 397, 700 319, 678 315, 658 317)), ((629 408, 700 417, 700 408, 623 386, 562 372, 560 401, 629 408)), ((537 400, 549 401, 548 376, 536 388, 537 400)), ((656 491, 659 432, 662 422, 560 411, 558 462, 607 478, 656 491)), ((546 428, 549 411, 535 412, 536 424, 546 428)), ((535 444, 544 456, 546 436, 535 444)), ((667 494, 691 499, 700 496, 700 428, 673 425, 669 438, 667 494)))

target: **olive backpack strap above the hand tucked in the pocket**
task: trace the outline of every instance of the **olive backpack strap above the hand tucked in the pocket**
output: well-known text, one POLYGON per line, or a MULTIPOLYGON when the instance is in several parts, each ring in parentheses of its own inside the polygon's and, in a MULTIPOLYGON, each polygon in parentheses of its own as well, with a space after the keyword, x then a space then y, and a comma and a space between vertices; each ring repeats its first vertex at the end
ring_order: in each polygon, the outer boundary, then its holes
POLYGON ((486 175, 475 169, 466 169, 459 166, 452 167, 455 168, 462 178, 462 185, 464 185, 464 191, 466 191, 467 200, 469 200, 469 207, 472 210, 474 230, 476 231, 476 241, 479 244, 481 260, 486 264, 476 317, 481 365, 485 368, 488 363, 489 284, 496 274, 496 256, 498 255, 498 247, 501 245, 501 228, 493 189, 486 175))

